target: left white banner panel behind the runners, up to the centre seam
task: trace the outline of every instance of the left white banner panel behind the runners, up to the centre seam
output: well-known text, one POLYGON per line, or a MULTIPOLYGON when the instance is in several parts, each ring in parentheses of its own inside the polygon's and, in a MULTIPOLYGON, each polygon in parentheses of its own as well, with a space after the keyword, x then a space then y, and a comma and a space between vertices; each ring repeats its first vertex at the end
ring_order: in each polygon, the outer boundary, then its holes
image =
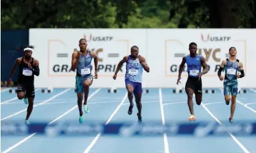
MULTIPOLYGON (((133 45, 139 46, 140 54, 145 54, 145 30, 121 29, 30 29, 29 42, 35 45, 34 57, 40 61, 42 74, 35 79, 38 87, 75 87, 76 72, 71 70, 71 57, 79 51, 79 40, 86 38, 87 49, 98 55, 98 79, 93 87, 123 85, 125 64, 113 80, 120 60, 130 54, 133 45), (42 80, 47 80, 43 82, 42 80)), ((94 76, 92 59, 92 74, 94 76)))

